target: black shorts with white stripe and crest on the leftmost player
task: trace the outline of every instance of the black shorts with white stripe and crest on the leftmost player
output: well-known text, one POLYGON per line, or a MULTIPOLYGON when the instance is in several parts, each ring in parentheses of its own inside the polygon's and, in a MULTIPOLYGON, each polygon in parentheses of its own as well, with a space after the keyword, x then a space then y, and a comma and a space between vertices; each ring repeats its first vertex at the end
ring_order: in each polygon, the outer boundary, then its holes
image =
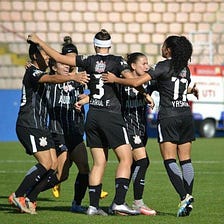
POLYGON ((29 155, 55 148, 51 133, 47 129, 27 128, 17 125, 16 134, 29 155))

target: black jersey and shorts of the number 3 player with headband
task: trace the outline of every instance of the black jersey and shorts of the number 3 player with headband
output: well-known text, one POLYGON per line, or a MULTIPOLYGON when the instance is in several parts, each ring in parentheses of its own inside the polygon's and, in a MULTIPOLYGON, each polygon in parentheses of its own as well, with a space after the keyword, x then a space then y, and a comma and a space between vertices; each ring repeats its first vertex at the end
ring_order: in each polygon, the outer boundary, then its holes
POLYGON ((101 79, 105 72, 112 72, 120 77, 121 72, 128 69, 126 61, 120 56, 110 54, 79 55, 76 57, 76 65, 90 75, 89 111, 85 124, 87 146, 116 148, 128 144, 119 100, 120 86, 104 83, 101 79))

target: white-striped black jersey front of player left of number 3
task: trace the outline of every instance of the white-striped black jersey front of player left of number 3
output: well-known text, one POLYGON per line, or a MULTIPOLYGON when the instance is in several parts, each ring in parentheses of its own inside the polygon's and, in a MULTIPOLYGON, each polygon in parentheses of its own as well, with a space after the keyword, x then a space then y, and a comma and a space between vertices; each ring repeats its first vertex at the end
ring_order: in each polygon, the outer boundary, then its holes
POLYGON ((58 134, 84 134, 84 108, 77 112, 74 104, 84 88, 77 82, 49 84, 47 90, 50 131, 58 134))

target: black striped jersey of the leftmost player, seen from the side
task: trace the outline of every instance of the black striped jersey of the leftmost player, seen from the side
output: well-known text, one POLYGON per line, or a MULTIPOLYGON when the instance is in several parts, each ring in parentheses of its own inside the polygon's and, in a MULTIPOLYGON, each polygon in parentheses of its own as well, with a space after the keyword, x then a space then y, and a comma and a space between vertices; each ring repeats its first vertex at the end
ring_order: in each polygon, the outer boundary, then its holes
POLYGON ((44 71, 33 65, 26 69, 22 81, 21 104, 17 125, 47 129, 46 86, 43 83, 38 83, 44 74, 44 71))

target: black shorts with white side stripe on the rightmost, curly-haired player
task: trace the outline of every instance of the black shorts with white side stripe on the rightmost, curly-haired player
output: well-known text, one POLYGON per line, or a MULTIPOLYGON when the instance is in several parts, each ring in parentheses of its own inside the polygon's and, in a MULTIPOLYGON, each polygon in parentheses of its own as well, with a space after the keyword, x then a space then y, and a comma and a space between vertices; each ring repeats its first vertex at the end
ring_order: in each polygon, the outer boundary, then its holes
POLYGON ((192 116, 177 116, 158 120, 158 142, 184 144, 195 140, 192 116))

